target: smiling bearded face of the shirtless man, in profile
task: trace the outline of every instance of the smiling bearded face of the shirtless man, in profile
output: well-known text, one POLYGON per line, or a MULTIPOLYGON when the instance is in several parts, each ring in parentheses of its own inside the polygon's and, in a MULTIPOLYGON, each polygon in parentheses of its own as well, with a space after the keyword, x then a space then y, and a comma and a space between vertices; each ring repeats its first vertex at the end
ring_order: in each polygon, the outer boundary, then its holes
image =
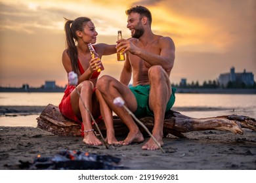
POLYGON ((131 37, 139 39, 143 33, 144 29, 141 24, 140 14, 131 13, 128 15, 127 28, 131 31, 131 37))

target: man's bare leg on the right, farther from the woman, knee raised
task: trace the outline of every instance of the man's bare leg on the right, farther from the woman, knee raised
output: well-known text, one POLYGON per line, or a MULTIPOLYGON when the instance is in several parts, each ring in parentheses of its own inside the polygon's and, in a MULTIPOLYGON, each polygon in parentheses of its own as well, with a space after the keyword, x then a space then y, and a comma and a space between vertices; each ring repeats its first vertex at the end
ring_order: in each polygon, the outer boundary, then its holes
MULTIPOLYGON (((171 82, 161 66, 153 66, 148 71, 150 78, 149 104, 154 112, 154 128, 152 135, 163 145, 163 120, 167 102, 171 96, 171 82)), ((144 150, 157 150, 158 145, 152 138, 142 146, 144 150)))

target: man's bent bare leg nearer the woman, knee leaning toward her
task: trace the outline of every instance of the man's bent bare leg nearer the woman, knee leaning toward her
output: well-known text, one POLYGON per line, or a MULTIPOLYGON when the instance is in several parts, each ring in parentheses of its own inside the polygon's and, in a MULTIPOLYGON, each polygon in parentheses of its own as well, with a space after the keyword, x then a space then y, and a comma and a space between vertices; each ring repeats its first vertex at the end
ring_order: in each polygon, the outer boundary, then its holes
POLYGON ((125 140, 121 141, 120 143, 123 145, 128 145, 132 142, 144 141, 144 137, 140 132, 139 127, 135 124, 131 115, 129 115, 124 108, 117 107, 113 103, 116 97, 121 96, 125 101, 125 105, 130 108, 131 111, 135 111, 137 109, 137 101, 131 90, 129 90, 127 86, 121 84, 115 78, 106 75, 99 78, 97 82, 97 88, 102 94, 102 97, 104 101, 106 101, 108 107, 110 107, 117 114, 117 116, 119 116, 119 118, 125 125, 127 125, 129 129, 129 134, 125 140))

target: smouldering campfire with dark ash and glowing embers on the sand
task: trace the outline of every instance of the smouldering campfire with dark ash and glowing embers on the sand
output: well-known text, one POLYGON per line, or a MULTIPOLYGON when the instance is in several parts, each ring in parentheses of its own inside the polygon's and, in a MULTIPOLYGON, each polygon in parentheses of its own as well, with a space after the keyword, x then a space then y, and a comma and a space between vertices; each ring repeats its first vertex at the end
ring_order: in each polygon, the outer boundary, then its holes
POLYGON ((98 155, 76 150, 63 150, 53 157, 43 157, 39 154, 33 159, 33 163, 20 161, 20 168, 39 170, 123 169, 124 167, 118 165, 120 161, 120 158, 108 155, 98 155))

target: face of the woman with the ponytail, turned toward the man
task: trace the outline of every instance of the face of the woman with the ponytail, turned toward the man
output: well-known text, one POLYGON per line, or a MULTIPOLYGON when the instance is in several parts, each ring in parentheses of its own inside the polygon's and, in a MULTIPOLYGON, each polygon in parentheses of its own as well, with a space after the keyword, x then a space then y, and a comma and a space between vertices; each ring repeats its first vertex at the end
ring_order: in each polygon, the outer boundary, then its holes
POLYGON ((87 24, 83 28, 83 42, 95 44, 97 35, 98 33, 96 32, 95 25, 93 24, 93 22, 87 22, 87 24))

